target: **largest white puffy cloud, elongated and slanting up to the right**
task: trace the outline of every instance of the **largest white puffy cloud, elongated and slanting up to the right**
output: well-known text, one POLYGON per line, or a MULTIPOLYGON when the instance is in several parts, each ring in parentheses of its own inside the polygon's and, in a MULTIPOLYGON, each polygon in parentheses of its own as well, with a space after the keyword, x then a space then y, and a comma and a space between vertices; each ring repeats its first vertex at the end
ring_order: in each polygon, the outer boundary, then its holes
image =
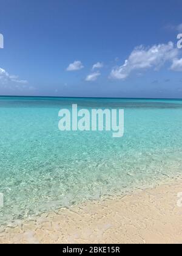
POLYGON ((132 71, 144 71, 149 68, 160 69, 166 62, 172 62, 178 55, 174 43, 158 44, 151 48, 136 47, 122 66, 112 69, 110 77, 126 79, 132 71))

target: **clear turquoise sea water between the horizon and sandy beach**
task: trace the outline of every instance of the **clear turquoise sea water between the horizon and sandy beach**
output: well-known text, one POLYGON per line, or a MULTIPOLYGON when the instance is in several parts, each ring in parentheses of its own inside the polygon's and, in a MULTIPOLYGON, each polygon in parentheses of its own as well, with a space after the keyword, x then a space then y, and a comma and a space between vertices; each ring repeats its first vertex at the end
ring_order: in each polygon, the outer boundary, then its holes
POLYGON ((0 98, 0 222, 182 174, 182 101, 0 98), (124 108, 123 138, 60 132, 58 112, 124 108))

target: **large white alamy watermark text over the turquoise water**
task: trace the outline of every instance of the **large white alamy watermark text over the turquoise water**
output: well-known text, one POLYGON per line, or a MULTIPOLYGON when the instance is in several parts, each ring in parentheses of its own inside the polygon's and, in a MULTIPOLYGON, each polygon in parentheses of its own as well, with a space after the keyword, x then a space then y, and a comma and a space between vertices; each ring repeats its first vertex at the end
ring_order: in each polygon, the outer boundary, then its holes
POLYGON ((64 131, 112 131, 114 138, 124 135, 123 109, 80 109, 73 104, 72 109, 61 109, 58 116, 59 130, 64 131))

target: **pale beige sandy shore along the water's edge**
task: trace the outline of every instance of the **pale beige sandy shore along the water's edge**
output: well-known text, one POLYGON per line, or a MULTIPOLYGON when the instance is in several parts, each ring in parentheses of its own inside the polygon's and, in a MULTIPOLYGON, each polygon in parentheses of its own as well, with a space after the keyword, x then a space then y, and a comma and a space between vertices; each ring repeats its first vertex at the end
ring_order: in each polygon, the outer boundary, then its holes
POLYGON ((182 177, 0 228, 0 243, 182 243, 182 177))

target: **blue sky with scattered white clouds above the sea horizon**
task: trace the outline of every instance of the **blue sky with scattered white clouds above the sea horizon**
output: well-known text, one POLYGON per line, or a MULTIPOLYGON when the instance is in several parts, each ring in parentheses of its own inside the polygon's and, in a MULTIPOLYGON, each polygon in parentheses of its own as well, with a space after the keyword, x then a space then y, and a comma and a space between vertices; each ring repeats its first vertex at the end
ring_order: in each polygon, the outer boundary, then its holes
POLYGON ((181 13, 180 0, 1 0, 0 94, 182 98, 181 13))

